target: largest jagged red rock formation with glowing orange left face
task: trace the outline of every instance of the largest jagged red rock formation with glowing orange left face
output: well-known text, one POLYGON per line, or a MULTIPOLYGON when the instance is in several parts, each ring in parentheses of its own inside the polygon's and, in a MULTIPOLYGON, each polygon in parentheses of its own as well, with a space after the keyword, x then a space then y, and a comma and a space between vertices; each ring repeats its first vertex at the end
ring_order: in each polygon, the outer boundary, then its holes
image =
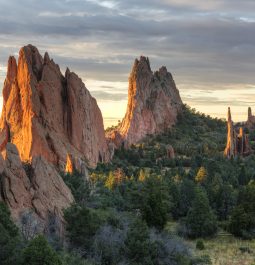
POLYGON ((3 88, 0 147, 14 143, 22 161, 41 155, 63 171, 71 155, 76 168, 108 161, 103 119, 96 100, 69 69, 65 76, 45 53, 28 45, 18 64, 9 58, 3 88))

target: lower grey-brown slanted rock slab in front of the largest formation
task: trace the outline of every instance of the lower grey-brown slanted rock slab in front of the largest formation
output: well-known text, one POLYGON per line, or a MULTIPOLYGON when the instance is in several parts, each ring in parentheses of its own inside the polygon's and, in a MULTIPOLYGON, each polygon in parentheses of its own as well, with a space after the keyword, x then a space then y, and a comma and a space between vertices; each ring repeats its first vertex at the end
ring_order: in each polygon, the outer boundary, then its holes
POLYGON ((33 157, 32 164, 24 167, 16 146, 7 143, 3 156, 0 154, 0 174, 0 201, 7 203, 17 223, 31 210, 43 224, 42 230, 47 227, 49 214, 63 222, 62 210, 74 199, 55 167, 44 158, 33 157))

